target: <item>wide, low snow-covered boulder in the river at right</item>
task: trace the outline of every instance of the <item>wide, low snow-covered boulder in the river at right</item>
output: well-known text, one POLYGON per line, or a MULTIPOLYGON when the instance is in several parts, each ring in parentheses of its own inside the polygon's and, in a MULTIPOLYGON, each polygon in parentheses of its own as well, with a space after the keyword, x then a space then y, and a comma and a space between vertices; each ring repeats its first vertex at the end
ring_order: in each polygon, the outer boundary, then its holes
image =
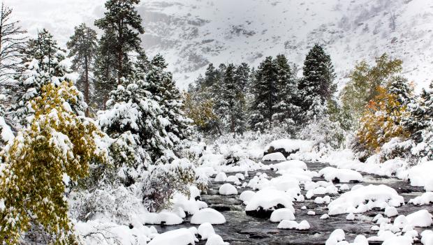
POLYGON ((329 214, 363 213, 374 208, 399 207, 404 198, 386 185, 369 185, 352 188, 328 205, 329 214))

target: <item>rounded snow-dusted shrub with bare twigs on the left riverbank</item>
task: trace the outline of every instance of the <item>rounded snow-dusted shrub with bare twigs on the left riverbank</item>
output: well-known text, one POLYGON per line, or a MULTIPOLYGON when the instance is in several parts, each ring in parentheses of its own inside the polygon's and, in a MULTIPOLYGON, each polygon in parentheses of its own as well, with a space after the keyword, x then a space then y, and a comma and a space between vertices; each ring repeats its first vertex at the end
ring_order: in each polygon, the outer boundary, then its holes
POLYGON ((143 202, 149 211, 159 211, 170 205, 176 192, 189 196, 189 184, 196 179, 194 166, 186 158, 173 163, 154 165, 144 179, 143 202))

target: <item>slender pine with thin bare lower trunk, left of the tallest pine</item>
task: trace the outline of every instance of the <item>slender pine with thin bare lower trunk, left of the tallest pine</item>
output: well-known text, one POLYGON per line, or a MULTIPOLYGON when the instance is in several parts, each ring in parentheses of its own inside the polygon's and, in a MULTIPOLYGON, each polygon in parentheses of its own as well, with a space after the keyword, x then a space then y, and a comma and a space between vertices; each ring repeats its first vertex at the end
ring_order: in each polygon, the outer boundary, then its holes
MULTIPOLYGON (((90 84, 94 69, 94 59, 98 51, 97 42, 96 31, 83 23, 75 27, 71 40, 66 44, 70 50, 69 57, 73 57, 71 68, 80 73, 77 86, 83 92, 87 105, 90 105, 90 84)), ((89 116, 89 107, 87 107, 86 116, 89 116)))

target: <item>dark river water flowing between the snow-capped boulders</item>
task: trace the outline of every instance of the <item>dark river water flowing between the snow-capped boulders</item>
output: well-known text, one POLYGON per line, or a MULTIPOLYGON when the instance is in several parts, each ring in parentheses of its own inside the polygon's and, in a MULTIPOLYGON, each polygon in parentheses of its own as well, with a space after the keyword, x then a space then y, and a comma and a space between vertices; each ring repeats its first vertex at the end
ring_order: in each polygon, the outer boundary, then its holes
MULTIPOLYGON (((309 170, 318 171, 325 168, 328 165, 323 163, 307 163, 309 170)), ((272 170, 258 172, 265 172, 269 177, 277 177, 277 174, 272 170)), ((233 173, 234 175, 235 173, 233 173)), ((227 174, 231 175, 231 174, 227 174)), ((249 181, 252 177, 256 175, 256 172, 249 172, 249 177, 245 181, 249 181)), ((420 195, 423 192, 422 188, 412 187, 406 181, 401 181, 399 179, 384 178, 375 175, 363 174, 365 182, 363 185, 367 184, 386 184, 404 197, 405 202, 409 199, 420 195)), ((314 178, 314 181, 324 180, 322 178, 314 178)), ((244 182, 244 181, 242 181, 244 182)), ((269 219, 255 218, 247 216, 245 214, 242 201, 239 200, 239 195, 219 195, 219 186, 224 183, 210 183, 210 190, 207 194, 202 195, 202 200, 209 205, 209 207, 217 209, 226 217, 226 223, 223 225, 214 225, 214 230, 218 235, 224 239, 225 242, 229 242, 232 245, 244 245, 244 244, 325 244, 326 239, 328 239, 330 233, 341 228, 346 232, 346 241, 353 242, 353 239, 357 235, 365 235, 366 237, 375 236, 377 233, 370 230, 370 228, 375 225, 372 222, 374 216, 376 216, 377 211, 369 211, 362 216, 359 216, 355 221, 346 221, 346 214, 331 216, 328 219, 321 220, 319 217, 322 214, 327 214, 327 205, 317 205, 313 200, 305 200, 304 202, 294 202, 293 207, 295 207, 295 217, 296 221, 300 222, 302 220, 308 221, 311 226, 309 230, 279 230, 277 229, 278 223, 271 223, 269 219), (302 206, 307 206, 307 210, 301 210, 302 206), (316 212, 315 216, 307 215, 307 211, 313 210, 316 212)), ((348 184, 353 186, 354 184, 348 184)), ((251 190, 250 188, 241 188, 239 193, 242 191, 251 190)), ((302 191, 305 195, 306 191, 302 191)), ((329 194, 327 194, 329 195, 329 194)), ((335 195, 330 195, 332 200, 337 198, 335 195)), ((420 209, 427 209, 433 213, 433 206, 426 205, 422 207, 416 207, 413 205, 404 205, 403 207, 397 208, 399 214, 411 214, 413 211, 418 211, 420 209)), ((383 214, 383 211, 380 211, 383 214)), ((189 223, 189 218, 186 217, 185 221, 181 225, 172 225, 161 227, 156 225, 158 232, 166 232, 169 230, 175 230, 178 228, 189 228, 191 225, 189 223)), ((418 230, 420 232, 422 230, 418 230)), ((205 244, 205 242, 200 242, 199 244, 205 244)), ((374 244, 374 243, 371 243, 374 244)), ((381 242, 376 243, 381 244, 381 242)))

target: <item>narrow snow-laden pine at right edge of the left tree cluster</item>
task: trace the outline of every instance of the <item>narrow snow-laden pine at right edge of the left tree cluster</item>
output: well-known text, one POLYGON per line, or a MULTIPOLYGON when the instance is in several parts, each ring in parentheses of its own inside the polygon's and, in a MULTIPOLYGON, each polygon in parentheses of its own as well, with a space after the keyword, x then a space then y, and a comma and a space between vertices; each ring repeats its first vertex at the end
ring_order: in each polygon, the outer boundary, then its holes
POLYGON ((161 116, 167 120, 166 132, 177 152, 182 149, 183 140, 191 135, 191 119, 184 114, 182 96, 176 87, 173 75, 166 68, 165 59, 157 54, 150 62, 146 89, 152 94, 150 98, 161 105, 161 116))

